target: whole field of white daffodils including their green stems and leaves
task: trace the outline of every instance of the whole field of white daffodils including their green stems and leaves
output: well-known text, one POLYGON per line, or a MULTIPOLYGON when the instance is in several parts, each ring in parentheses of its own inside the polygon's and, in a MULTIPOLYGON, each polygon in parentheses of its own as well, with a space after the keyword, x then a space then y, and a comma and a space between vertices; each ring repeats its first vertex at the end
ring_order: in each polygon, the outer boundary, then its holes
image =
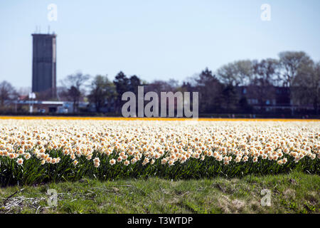
POLYGON ((0 119, 1 185, 319 174, 320 122, 0 119))

